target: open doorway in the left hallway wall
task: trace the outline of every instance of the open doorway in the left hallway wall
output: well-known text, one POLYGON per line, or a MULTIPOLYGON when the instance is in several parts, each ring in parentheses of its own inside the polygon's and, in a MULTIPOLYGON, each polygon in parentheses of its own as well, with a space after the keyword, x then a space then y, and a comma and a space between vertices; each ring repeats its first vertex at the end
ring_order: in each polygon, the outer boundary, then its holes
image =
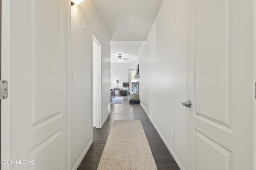
POLYGON ((93 36, 93 126, 101 128, 101 45, 93 36))

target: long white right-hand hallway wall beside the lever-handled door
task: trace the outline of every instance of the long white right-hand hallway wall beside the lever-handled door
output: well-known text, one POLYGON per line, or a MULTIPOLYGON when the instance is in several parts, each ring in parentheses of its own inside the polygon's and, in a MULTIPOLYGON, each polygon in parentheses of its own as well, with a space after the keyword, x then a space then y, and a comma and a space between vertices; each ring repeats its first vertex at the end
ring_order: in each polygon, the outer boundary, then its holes
POLYGON ((179 166, 185 168, 186 109, 182 102, 186 101, 186 0, 162 2, 140 48, 138 63, 140 102, 179 166))

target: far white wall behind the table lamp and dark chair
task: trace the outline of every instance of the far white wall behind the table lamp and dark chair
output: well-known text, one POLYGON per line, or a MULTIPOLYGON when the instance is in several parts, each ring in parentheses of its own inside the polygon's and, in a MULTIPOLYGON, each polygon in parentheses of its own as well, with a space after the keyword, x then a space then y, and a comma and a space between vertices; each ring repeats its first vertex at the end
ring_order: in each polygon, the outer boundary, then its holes
MULTIPOLYGON (((123 82, 129 82, 129 69, 129 63, 111 63, 111 87, 116 87, 115 80, 119 80, 119 88, 123 86, 123 82)), ((117 90, 116 94, 118 94, 117 90)))

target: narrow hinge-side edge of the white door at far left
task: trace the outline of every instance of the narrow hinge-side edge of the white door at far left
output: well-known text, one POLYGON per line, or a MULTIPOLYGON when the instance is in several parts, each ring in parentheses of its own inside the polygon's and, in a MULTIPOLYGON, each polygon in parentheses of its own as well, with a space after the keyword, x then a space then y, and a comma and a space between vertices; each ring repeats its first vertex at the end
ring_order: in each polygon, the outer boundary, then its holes
MULTIPOLYGON (((9 82, 9 25, 10 25, 10 1, 2 1, 2 80, 9 82)), ((9 160, 9 98, 1 104, 1 159, 9 160)), ((2 166, 2 170, 9 170, 9 165, 2 166)))

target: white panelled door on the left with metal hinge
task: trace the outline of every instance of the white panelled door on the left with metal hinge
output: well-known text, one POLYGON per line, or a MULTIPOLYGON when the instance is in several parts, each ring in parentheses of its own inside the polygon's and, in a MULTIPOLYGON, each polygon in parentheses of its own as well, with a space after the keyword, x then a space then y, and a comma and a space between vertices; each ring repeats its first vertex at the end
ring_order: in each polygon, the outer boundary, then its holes
POLYGON ((2 7, 2 170, 67 170, 70 0, 2 7))

